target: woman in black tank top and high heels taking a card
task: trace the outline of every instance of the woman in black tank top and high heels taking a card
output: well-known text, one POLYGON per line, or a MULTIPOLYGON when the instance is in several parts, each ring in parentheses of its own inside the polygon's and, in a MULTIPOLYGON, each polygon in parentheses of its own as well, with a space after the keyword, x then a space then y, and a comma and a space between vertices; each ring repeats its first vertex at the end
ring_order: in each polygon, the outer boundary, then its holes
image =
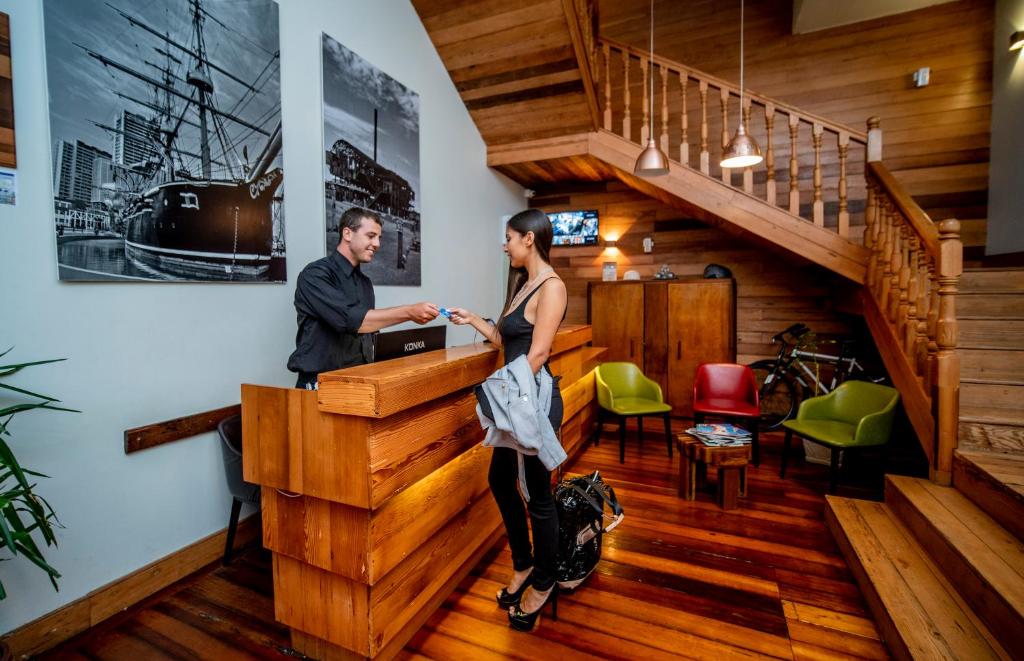
MULTIPOLYGON (((505 364, 525 355, 535 373, 540 369, 551 372, 548 367, 551 344, 565 317, 565 284, 548 257, 552 233, 551 221, 536 209, 518 213, 509 220, 505 228, 509 288, 496 326, 468 310, 451 309, 454 323, 468 323, 505 349, 505 364)), ((557 382, 552 390, 548 420, 558 433, 562 425, 562 397, 557 382)), ((553 615, 557 613, 558 515, 551 493, 550 472, 536 456, 524 456, 523 468, 529 491, 525 508, 517 489, 519 466, 515 450, 494 449, 488 481, 512 552, 512 579, 498 593, 498 605, 508 609, 513 627, 530 630, 548 601, 552 602, 553 615), (534 531, 532 546, 526 526, 527 511, 534 531)))

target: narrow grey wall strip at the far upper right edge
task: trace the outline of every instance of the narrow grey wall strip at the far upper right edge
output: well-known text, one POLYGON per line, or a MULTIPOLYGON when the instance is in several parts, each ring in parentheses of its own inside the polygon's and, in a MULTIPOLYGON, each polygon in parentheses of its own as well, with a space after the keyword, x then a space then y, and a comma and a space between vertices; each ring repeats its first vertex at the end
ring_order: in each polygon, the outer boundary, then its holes
POLYGON ((992 41, 992 150, 988 166, 986 255, 1024 252, 1024 50, 1010 35, 1024 30, 1024 0, 996 0, 992 41))

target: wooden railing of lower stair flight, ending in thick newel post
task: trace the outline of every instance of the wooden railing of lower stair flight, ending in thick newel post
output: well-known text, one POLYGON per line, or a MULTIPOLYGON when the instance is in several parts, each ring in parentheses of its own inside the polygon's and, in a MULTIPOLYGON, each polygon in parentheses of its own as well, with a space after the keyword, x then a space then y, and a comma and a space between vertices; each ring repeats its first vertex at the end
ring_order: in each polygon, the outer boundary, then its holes
MULTIPOLYGON (((870 251, 865 289, 888 324, 916 384, 899 384, 913 422, 912 398, 933 421, 933 479, 948 484, 959 418, 956 293, 964 270, 959 222, 937 225, 882 163, 882 129, 867 121, 867 205, 864 247, 870 251), (914 387, 916 386, 916 387, 914 387)), ((893 370, 890 369, 890 372, 893 370)), ((923 437, 922 430, 919 437, 923 437)))

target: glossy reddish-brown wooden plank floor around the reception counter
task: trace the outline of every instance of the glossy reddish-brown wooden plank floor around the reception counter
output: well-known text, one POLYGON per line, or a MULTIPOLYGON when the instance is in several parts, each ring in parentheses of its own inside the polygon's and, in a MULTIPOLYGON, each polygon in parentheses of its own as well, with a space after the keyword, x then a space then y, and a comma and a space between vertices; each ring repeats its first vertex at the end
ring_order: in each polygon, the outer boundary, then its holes
MULTIPOLYGON (((780 437, 767 435, 749 496, 725 513, 710 492, 694 502, 676 496, 678 457, 670 461, 653 435, 642 452, 633 435, 620 465, 610 431, 571 469, 600 469, 626 520, 605 537, 595 574, 562 596, 558 621, 543 617, 532 634, 508 627, 494 602, 511 572, 503 543, 410 642, 406 658, 887 658, 825 529, 824 467, 798 460, 779 480, 780 437)), ((273 619, 269 556, 252 549, 44 658, 295 658, 288 646, 287 628, 273 619)))

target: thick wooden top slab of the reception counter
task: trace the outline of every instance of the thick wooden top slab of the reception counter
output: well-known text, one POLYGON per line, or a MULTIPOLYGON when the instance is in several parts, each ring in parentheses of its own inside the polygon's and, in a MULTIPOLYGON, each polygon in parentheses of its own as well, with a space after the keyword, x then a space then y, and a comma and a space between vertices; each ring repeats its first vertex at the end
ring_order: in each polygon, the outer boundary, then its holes
MULTIPOLYGON (((551 355, 590 342, 589 325, 563 325, 551 355)), ((328 371, 319 377, 322 411, 386 417, 474 386, 496 368, 499 350, 482 342, 328 371)))

